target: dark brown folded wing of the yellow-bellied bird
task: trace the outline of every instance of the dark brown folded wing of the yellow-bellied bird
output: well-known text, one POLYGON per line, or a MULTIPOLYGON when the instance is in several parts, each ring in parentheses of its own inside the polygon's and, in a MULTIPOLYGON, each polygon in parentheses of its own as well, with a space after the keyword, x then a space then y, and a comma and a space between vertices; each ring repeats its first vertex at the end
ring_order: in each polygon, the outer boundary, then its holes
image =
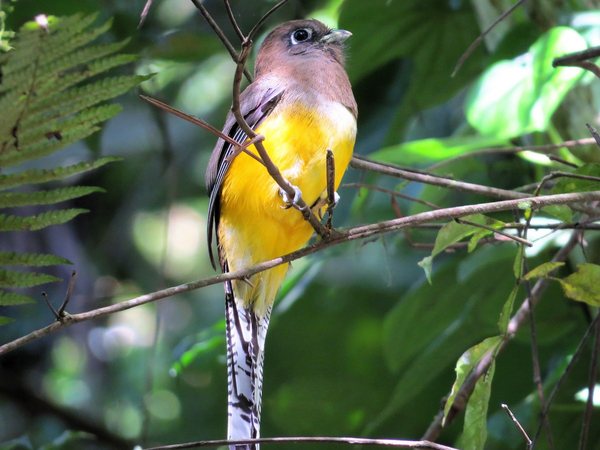
MULTIPOLYGON (((248 86, 240 96, 241 113, 244 115, 247 124, 250 125, 253 130, 256 130, 256 128, 262 124, 266 116, 271 113, 283 95, 284 89, 279 83, 274 81, 275 80, 260 80, 259 82, 254 82, 248 86)), ((233 112, 229 112, 229 115, 227 115, 227 120, 223 127, 223 134, 226 134, 238 143, 244 143, 245 140, 248 139, 247 134, 239 128, 233 112)), ((217 229, 220 216, 221 187, 223 185, 225 173, 227 172, 227 169, 229 169, 230 163, 227 161, 227 157, 233 154, 233 151, 233 145, 219 138, 217 140, 217 145, 215 145, 215 148, 212 151, 211 159, 208 161, 208 167, 206 168, 206 191, 210 196, 206 240, 208 241, 208 253, 211 257, 211 263, 214 269, 216 269, 217 266, 215 264, 214 254, 212 253, 212 233, 214 227, 218 247, 217 229)), ((221 269, 226 271, 226 262, 221 258, 221 255, 219 255, 219 260, 221 269)))

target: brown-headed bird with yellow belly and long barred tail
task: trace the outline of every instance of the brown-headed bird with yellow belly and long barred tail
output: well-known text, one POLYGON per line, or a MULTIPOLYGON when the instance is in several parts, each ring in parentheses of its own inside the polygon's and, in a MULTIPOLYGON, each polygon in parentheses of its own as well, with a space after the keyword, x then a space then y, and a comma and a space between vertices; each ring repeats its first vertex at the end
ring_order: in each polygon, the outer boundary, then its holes
MULTIPOLYGON (((328 149, 337 189, 356 139, 358 111, 344 53, 350 35, 315 19, 276 26, 257 53, 254 81, 240 95, 245 121, 264 136, 269 157, 313 212, 327 203, 328 149)), ((223 134, 240 144, 248 140, 232 111, 223 134)), ((258 154, 254 145, 247 149, 258 154)), ((313 234, 302 214, 290 208, 297 199, 287 197, 260 161, 222 138, 208 163, 206 190, 209 255, 216 269, 214 235, 223 273, 299 250, 313 234)), ((260 436, 266 331, 288 267, 225 283, 229 440, 260 436)), ((256 443, 230 445, 258 449, 256 443)))

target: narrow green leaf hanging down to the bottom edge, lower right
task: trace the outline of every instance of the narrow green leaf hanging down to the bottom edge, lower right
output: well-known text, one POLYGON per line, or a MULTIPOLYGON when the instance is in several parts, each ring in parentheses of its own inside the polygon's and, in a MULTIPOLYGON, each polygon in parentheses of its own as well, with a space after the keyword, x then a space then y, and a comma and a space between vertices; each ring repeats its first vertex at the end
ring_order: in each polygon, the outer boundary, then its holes
POLYGON ((491 382, 496 361, 492 361, 484 376, 475 383, 464 412, 463 449, 483 450, 487 439, 487 410, 490 404, 491 382))

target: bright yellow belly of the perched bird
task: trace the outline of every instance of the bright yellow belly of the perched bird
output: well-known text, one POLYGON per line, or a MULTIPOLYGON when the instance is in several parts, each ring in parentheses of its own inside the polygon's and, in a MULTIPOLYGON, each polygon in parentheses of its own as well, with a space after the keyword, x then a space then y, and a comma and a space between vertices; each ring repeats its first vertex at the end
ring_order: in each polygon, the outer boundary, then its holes
MULTIPOLYGON (((335 157, 335 188, 346 170, 356 121, 341 104, 310 112, 295 105, 276 110, 257 129, 281 174, 312 205, 326 190, 326 150, 335 157)), ((256 148, 250 151, 257 154, 256 148)), ((277 183, 258 161, 244 153, 233 160, 223 181, 219 242, 230 271, 282 256, 303 247, 313 228, 296 209, 282 209, 277 183)), ((263 314, 286 275, 281 265, 250 278, 254 287, 234 282, 235 297, 263 314)))

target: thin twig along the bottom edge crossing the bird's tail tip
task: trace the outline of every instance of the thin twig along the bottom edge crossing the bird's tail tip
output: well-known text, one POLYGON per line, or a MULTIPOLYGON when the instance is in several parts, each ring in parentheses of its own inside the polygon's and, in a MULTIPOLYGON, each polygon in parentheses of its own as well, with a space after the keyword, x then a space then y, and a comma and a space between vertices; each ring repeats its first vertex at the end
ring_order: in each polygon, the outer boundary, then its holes
POLYGON ((457 450, 454 447, 428 442, 425 440, 398 440, 398 439, 367 439, 364 437, 261 437, 260 439, 220 439, 220 440, 201 440, 198 442, 188 442, 184 444, 164 445, 152 447, 145 450, 175 450, 196 447, 217 447, 220 445, 233 444, 263 444, 263 443, 302 443, 302 442, 321 442, 338 443, 349 445, 376 445, 381 447, 395 448, 429 448, 433 450, 457 450))

